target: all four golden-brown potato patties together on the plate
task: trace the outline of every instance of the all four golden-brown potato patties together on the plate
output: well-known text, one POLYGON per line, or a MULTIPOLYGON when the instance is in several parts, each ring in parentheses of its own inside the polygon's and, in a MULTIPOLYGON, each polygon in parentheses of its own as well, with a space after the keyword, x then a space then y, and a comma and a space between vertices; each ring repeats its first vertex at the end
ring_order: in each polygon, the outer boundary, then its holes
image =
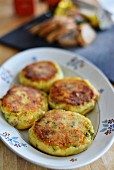
POLYGON ((68 156, 87 149, 94 130, 83 115, 95 107, 97 90, 79 77, 63 78, 52 61, 26 66, 19 80, 23 85, 13 86, 1 99, 8 123, 17 129, 31 127, 30 143, 51 155, 68 156), (48 111, 48 103, 54 110, 48 111))

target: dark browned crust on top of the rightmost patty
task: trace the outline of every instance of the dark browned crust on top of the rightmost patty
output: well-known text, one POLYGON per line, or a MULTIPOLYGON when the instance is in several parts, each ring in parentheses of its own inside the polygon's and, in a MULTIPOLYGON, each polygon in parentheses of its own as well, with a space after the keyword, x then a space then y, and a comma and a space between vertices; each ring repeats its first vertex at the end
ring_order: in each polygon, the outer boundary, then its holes
POLYGON ((50 91, 50 98, 56 103, 73 106, 83 105, 95 97, 92 88, 84 80, 65 78, 56 81, 50 91))

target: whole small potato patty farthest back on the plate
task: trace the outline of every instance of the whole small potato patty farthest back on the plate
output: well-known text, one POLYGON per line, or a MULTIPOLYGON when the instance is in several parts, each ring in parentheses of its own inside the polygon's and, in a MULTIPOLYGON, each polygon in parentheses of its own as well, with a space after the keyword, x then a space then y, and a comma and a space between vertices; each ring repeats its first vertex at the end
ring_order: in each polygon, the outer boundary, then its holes
POLYGON ((21 84, 49 91, 56 80, 63 78, 59 65, 52 61, 39 61, 26 66, 20 73, 21 84))

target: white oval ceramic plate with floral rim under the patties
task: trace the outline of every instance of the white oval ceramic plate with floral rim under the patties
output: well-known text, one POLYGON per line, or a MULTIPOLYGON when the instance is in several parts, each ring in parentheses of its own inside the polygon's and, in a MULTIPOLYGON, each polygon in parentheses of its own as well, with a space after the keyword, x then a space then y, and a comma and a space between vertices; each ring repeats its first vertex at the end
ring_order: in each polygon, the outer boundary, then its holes
POLYGON ((65 76, 88 79, 100 92, 96 108, 87 114, 93 123, 96 137, 84 152, 68 156, 50 156, 29 144, 28 131, 18 131, 10 126, 0 113, 0 136, 2 141, 24 159, 48 168, 72 169, 87 165, 101 157, 114 139, 114 92, 107 78, 91 63, 74 53, 57 48, 35 48, 21 52, 0 68, 0 98, 12 84, 18 83, 18 73, 26 65, 40 60, 56 61, 65 76))

